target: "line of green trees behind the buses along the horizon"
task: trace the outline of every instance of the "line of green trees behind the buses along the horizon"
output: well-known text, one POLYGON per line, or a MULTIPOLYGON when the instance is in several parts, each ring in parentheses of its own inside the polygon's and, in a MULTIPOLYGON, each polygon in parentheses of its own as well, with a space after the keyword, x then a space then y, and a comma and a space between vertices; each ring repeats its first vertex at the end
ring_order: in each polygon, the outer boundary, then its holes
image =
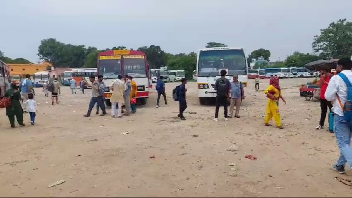
MULTIPOLYGON (((206 48, 216 46, 227 46, 223 43, 208 42, 206 48)), ((40 61, 50 62, 54 67, 97 67, 98 54, 102 51, 115 49, 130 49, 125 46, 116 46, 106 49, 86 47, 85 45, 65 44, 55 38, 43 39, 38 47, 40 61)), ((268 49, 257 49, 252 51, 247 58, 249 63, 252 58, 264 57, 266 61, 258 61, 254 68, 267 67, 303 67, 305 63, 331 58, 351 57, 352 55, 352 22, 346 19, 339 19, 332 22, 326 29, 320 30, 320 35, 313 38, 312 49, 314 53, 302 53, 295 51, 287 56, 284 61, 277 61, 269 64, 271 53, 268 49)), ((196 53, 171 54, 165 52, 158 45, 142 46, 137 48, 145 52, 147 61, 151 68, 168 66, 169 69, 185 70, 186 76, 191 77, 196 68, 196 53)), ((6 63, 30 63, 24 58, 11 59, 4 56, 0 51, 0 59, 6 63)))

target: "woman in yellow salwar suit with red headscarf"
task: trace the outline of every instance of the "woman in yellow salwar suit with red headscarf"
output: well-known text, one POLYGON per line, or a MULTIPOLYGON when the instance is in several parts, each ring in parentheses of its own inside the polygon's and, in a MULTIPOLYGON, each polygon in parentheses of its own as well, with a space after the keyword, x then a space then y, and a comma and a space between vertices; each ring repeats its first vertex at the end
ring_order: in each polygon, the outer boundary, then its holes
POLYGON ((270 79, 270 86, 265 90, 265 94, 266 97, 269 98, 268 105, 266 106, 265 126, 272 126, 269 124, 269 121, 274 117, 276 128, 284 129, 284 127, 281 126, 279 98, 282 99, 284 104, 286 104, 286 101, 282 96, 281 88, 279 86, 279 78, 277 76, 270 79))

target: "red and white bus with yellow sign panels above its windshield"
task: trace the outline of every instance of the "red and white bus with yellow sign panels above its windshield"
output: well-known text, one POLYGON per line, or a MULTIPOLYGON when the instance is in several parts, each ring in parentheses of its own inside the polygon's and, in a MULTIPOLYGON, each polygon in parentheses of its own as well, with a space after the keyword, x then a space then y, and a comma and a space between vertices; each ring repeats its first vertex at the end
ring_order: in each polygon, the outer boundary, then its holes
POLYGON ((105 103, 111 106, 112 91, 109 85, 119 74, 133 77, 137 84, 137 102, 145 105, 149 97, 149 68, 147 56, 143 51, 135 50, 110 50, 99 53, 98 74, 103 75, 106 85, 105 103))

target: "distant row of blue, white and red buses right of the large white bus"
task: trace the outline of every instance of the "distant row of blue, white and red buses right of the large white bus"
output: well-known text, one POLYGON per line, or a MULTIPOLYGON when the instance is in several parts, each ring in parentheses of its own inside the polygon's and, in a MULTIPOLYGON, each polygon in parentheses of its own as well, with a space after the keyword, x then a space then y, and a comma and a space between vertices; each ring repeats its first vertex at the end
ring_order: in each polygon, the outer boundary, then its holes
POLYGON ((249 69, 248 79, 255 79, 257 76, 261 79, 270 78, 277 75, 279 78, 308 78, 315 77, 317 72, 307 68, 266 68, 266 69, 249 69))

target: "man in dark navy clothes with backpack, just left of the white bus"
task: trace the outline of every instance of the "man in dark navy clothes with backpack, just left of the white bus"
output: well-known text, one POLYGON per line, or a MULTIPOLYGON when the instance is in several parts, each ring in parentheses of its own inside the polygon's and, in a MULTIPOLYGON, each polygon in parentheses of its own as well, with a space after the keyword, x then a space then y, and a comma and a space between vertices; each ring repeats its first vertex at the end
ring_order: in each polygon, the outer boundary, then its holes
POLYGON ((186 120, 186 118, 183 116, 183 111, 186 110, 187 108, 186 83, 187 83, 187 80, 185 78, 182 78, 181 85, 176 86, 174 90, 172 90, 172 97, 174 98, 175 101, 178 101, 179 103, 180 113, 178 113, 177 117, 181 118, 181 120, 186 120))

